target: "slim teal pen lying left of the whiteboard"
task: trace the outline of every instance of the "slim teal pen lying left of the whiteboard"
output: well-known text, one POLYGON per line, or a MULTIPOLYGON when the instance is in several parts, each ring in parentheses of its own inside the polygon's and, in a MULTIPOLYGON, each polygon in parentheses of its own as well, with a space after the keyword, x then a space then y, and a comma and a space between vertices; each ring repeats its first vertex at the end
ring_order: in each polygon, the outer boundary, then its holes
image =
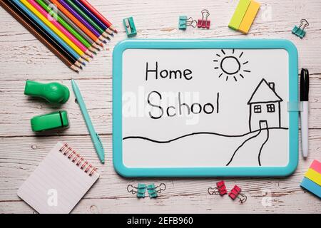
POLYGON ((73 86, 73 93, 75 93, 76 100, 78 102, 78 105, 81 108, 81 113, 83 114, 83 119, 86 122, 89 134, 91 134, 91 140, 93 140, 93 145, 96 149, 97 155, 101 160, 101 163, 105 163, 105 150, 103 150, 103 144, 101 143, 101 138, 99 138, 99 135, 96 133, 95 129, 93 128, 93 123, 91 123, 91 118, 89 117, 86 105, 83 102, 83 96, 81 95, 81 92, 77 86, 76 81, 71 79, 71 85, 73 86))

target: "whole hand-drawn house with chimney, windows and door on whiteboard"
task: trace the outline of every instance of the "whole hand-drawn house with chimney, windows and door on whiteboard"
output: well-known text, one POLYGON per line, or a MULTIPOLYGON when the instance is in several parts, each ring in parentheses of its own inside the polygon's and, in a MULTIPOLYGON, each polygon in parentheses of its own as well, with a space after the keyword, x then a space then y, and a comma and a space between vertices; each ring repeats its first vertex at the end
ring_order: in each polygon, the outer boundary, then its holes
POLYGON ((250 132, 264 128, 262 123, 267 124, 268 128, 280 128, 282 101, 275 92, 275 83, 267 83, 263 78, 248 100, 250 132))

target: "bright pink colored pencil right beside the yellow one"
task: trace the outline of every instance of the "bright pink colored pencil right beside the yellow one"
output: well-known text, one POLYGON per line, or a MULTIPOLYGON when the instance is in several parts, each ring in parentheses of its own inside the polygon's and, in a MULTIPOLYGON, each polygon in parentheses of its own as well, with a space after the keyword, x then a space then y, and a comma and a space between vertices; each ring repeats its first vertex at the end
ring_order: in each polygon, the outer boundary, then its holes
POLYGON ((78 39, 71 35, 71 33, 69 33, 66 28, 64 28, 63 26, 61 26, 61 24, 59 24, 56 19, 54 19, 50 14, 48 14, 44 9, 41 8, 41 6, 39 4, 36 3, 35 0, 26 0, 29 2, 29 4, 31 4, 32 6, 34 6, 34 8, 44 17, 46 17, 46 19, 48 19, 51 24, 53 24, 59 31, 61 31, 61 33, 63 33, 63 35, 65 35, 67 38, 69 38, 69 40, 71 42, 73 42, 74 45, 76 45, 78 48, 81 49, 81 51, 83 51, 83 53, 86 53, 87 56, 91 56, 93 57, 93 54, 86 48, 86 46, 83 46, 83 44, 78 41, 78 39))

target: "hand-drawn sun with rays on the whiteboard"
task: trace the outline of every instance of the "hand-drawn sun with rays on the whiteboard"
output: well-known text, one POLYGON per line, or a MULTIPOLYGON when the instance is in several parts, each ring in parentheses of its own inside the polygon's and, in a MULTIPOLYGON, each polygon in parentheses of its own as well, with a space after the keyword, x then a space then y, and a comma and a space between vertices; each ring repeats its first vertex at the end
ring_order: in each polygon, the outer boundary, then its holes
POLYGON ((243 61, 243 51, 241 53, 236 53, 234 49, 228 54, 227 50, 220 50, 220 53, 216 53, 216 59, 213 60, 215 63, 215 70, 219 70, 218 78, 225 78, 226 81, 230 77, 233 77, 235 81, 238 81, 238 77, 244 78, 245 73, 250 73, 251 71, 245 69, 248 61, 243 61))

